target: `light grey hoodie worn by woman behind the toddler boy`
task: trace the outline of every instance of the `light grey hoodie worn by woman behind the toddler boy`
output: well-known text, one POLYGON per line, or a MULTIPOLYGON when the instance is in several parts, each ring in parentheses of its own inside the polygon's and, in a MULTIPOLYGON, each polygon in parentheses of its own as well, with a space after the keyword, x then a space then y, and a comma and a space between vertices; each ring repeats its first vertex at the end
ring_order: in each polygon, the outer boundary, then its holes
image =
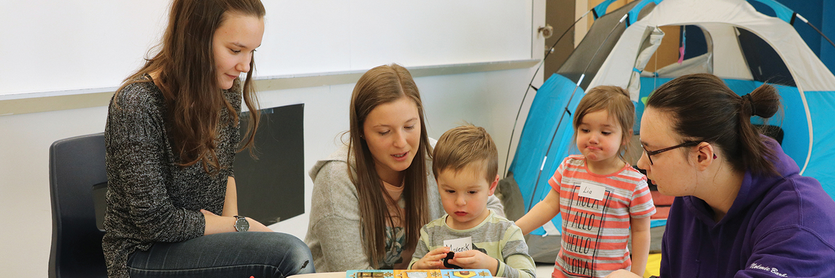
MULTIPOLYGON (((435 145, 436 140, 429 141, 435 145)), ((311 248, 316 272, 371 269, 371 262, 363 249, 357 187, 348 176, 347 157, 348 147, 342 145, 326 159, 316 162, 308 173, 313 179, 313 200, 305 243, 311 248)), ((350 163, 353 170, 353 158, 350 163)), ((445 212, 438 194, 438 183, 431 170, 432 159, 426 159, 426 166, 429 219, 433 220, 445 212)), ((487 207, 504 216, 504 207, 496 196, 489 197, 487 207)))

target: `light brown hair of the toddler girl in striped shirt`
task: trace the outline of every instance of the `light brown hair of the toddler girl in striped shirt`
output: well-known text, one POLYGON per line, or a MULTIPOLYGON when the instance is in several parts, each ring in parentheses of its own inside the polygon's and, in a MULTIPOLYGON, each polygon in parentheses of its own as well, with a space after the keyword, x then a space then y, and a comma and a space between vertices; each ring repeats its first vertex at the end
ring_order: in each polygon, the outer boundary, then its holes
MULTIPOLYGON (((606 110, 609 117, 614 117, 620 125, 620 142, 628 142, 632 137, 632 126, 635 124, 635 104, 629 98, 629 92, 617 86, 597 86, 579 100, 574 111, 574 141, 577 140, 577 129, 582 124, 586 114, 606 110)), ((618 157, 624 160, 624 154, 630 151, 629 144, 620 144, 618 157)))

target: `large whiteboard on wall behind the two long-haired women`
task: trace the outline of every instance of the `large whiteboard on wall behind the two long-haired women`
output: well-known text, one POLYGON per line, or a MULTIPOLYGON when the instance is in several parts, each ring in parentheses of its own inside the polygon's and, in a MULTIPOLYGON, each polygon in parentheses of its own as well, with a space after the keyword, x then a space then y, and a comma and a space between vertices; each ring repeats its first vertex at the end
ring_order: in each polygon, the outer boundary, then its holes
MULTIPOLYGON (((112 88, 159 42, 167 0, 3 0, 0 96, 112 88)), ((262 0, 256 77, 532 58, 532 1, 262 0)))

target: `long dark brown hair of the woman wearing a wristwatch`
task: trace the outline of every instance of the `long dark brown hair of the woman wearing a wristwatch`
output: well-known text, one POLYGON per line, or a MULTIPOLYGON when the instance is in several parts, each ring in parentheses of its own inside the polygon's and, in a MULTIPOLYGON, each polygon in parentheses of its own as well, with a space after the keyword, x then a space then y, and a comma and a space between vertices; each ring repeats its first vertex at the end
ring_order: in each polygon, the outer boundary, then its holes
MULTIPOLYGON (((159 53, 154 58, 147 58, 144 66, 125 78, 122 85, 124 88, 130 83, 152 82, 144 79, 144 75, 159 73, 156 83, 165 99, 169 119, 167 129, 172 148, 180 155, 178 163, 185 167, 202 162, 207 173, 210 173, 209 166, 220 168, 215 154, 220 109, 227 109, 232 116, 232 122, 228 124, 236 125, 239 120, 218 83, 212 51, 215 30, 229 13, 264 18, 266 11, 260 0, 175 0, 171 4, 168 27, 155 47, 159 53)), ((243 88, 240 88, 240 79, 230 88, 242 92, 251 114, 246 136, 242 139, 246 143, 241 149, 253 144, 260 122, 255 89, 252 88, 254 56, 250 68, 243 88)))

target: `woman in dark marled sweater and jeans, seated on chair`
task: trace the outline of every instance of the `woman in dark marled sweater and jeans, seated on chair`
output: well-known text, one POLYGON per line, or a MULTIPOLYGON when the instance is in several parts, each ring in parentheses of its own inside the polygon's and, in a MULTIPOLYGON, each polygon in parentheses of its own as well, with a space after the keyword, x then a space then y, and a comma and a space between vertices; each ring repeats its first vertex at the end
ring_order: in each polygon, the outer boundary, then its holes
POLYGON ((110 277, 314 271, 301 240, 237 215, 232 162, 241 98, 258 111, 251 68, 264 14, 259 0, 175 0, 159 53, 111 100, 102 240, 110 277))

